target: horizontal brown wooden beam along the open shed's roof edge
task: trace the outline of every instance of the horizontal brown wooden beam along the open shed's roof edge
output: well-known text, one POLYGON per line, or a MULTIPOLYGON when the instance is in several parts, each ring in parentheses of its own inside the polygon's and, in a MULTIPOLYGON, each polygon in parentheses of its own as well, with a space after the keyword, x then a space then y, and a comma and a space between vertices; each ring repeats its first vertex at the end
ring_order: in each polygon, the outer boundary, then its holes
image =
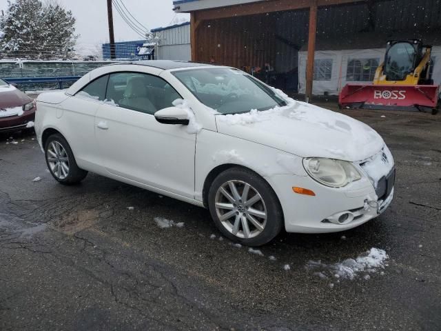
MULTIPOLYGON (((318 0, 317 6, 334 6, 345 3, 354 3, 367 0, 318 0)), ((242 5, 198 10, 197 20, 225 19, 228 17, 239 17, 254 14, 266 14, 268 12, 282 12, 286 10, 299 10, 309 8, 311 0, 267 0, 242 5)))

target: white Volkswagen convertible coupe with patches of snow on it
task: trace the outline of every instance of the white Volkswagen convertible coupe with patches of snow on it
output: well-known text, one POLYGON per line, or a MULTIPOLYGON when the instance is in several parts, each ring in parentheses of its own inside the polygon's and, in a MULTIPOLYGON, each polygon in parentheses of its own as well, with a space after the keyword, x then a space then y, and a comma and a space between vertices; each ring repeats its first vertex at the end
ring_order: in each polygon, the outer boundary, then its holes
POLYGON ((209 208, 245 245, 282 228, 354 228, 393 197, 393 158, 374 130, 234 68, 105 66, 40 94, 35 131, 60 183, 90 171, 209 208))

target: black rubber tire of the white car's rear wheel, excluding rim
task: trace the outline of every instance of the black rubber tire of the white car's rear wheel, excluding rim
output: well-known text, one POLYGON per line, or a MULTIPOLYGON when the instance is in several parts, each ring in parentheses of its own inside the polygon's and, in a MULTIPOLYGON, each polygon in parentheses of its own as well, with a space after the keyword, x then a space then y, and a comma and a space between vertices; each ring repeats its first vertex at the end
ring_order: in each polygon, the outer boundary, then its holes
POLYGON ((52 174, 52 177, 54 177, 56 181, 58 181, 63 185, 78 184, 88 175, 87 171, 80 169, 78 165, 76 165, 74 153, 70 149, 68 141, 66 141, 66 139, 64 139, 64 137, 59 133, 52 134, 50 137, 48 137, 44 146, 44 154, 45 154, 46 165, 48 165, 50 174, 52 174), (60 178, 59 176, 57 176, 57 174, 54 174, 54 171, 50 166, 50 161, 48 160, 48 150, 50 148, 49 146, 51 143, 54 142, 59 143, 64 148, 65 154, 67 154, 68 157, 69 168, 68 168, 68 173, 64 178, 60 178))

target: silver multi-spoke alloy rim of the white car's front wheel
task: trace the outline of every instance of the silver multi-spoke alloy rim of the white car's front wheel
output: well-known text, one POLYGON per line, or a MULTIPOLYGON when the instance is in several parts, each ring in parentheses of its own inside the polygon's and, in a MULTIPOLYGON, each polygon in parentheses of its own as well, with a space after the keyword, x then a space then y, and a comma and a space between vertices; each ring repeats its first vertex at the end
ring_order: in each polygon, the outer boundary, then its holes
POLYGON ((267 207, 252 185, 227 181, 218 188, 214 202, 220 223, 234 236, 254 238, 265 229, 267 207))

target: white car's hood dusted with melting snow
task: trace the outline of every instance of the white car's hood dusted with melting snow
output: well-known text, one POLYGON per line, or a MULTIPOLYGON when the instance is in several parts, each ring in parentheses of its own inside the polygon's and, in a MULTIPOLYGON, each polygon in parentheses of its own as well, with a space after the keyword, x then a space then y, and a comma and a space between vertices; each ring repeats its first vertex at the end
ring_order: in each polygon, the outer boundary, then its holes
POLYGON ((255 141, 299 157, 360 161, 379 152, 384 141, 365 123, 344 114, 289 99, 288 106, 217 114, 218 132, 255 141))

